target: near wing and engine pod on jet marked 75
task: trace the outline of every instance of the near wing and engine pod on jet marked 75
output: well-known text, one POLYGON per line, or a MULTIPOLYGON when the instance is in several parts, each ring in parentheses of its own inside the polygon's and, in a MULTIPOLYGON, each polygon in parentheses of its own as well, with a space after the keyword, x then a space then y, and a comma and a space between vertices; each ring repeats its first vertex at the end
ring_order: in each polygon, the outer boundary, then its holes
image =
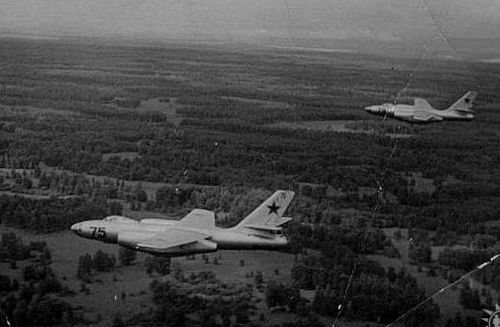
POLYGON ((215 251, 217 244, 208 238, 210 236, 202 233, 169 228, 137 242, 135 247, 140 251, 171 256, 215 251))

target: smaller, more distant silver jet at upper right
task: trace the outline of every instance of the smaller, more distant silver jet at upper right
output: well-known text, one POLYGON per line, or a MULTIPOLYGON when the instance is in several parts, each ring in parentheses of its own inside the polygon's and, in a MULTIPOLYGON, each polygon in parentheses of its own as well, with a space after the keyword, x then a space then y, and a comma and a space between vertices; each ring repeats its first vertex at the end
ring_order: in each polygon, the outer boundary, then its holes
POLYGON ((413 106, 405 104, 384 103, 368 106, 365 110, 376 115, 394 117, 411 123, 429 123, 443 120, 471 120, 474 118, 472 102, 477 92, 467 92, 449 108, 434 109, 427 100, 415 98, 413 106))

